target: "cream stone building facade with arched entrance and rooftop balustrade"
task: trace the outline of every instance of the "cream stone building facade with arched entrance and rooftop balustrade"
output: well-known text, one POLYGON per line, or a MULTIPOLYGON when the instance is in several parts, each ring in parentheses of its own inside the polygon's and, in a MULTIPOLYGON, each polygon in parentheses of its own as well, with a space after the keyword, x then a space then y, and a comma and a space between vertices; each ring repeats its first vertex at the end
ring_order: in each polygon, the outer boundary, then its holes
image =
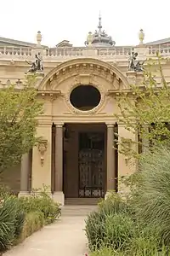
MULTIPOLYGON (((88 33, 84 47, 64 40, 48 48, 42 45, 41 32, 37 32, 37 44, 0 38, 1 88, 15 84, 21 89, 29 68, 26 61, 34 61, 36 54, 42 56, 44 67, 35 85, 43 102, 37 127, 42 141, 23 155, 20 166, 3 173, 1 183, 20 195, 45 184, 54 200, 62 204, 119 190, 117 177, 135 168, 113 147, 114 131, 127 140, 137 136, 117 122, 116 97, 122 90, 129 92, 129 84, 138 86, 143 77, 141 72, 129 70, 129 54, 137 52, 138 60, 145 61, 156 58, 158 50, 167 82, 170 80, 170 38, 149 44, 143 41, 141 30, 139 45, 116 46, 102 30, 100 17, 98 29, 88 33)), ((161 83, 158 73, 156 79, 161 83)))

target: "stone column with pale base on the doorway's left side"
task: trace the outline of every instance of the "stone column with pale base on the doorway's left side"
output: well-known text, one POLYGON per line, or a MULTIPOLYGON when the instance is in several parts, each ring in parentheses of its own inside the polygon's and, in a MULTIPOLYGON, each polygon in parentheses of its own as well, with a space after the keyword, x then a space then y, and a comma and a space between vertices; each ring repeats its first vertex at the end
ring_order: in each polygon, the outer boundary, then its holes
POLYGON ((54 170, 54 201, 65 204, 63 193, 63 124, 56 125, 55 134, 55 170, 54 170))

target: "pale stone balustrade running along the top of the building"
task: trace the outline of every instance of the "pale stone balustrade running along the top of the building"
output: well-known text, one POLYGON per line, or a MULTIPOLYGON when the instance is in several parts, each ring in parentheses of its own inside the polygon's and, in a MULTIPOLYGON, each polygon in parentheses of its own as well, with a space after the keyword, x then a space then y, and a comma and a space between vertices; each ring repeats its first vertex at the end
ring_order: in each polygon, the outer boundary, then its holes
POLYGON ((156 52, 162 56, 170 55, 169 46, 144 46, 144 47, 111 47, 111 48, 87 48, 87 47, 60 47, 60 48, 19 48, 19 47, 0 47, 0 60, 33 60, 36 52, 41 52, 43 61, 65 61, 72 58, 79 58, 85 56, 95 56, 99 59, 127 59, 129 53, 133 50, 140 52, 139 55, 144 55, 145 57, 154 57, 156 52))

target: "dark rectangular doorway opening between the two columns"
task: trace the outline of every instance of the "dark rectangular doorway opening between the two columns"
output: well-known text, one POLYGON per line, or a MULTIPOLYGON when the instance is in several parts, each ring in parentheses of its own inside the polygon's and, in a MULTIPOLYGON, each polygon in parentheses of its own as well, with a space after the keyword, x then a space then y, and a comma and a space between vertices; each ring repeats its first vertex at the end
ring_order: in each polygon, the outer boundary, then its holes
POLYGON ((100 198, 105 195, 106 125, 65 124, 65 198, 100 198))

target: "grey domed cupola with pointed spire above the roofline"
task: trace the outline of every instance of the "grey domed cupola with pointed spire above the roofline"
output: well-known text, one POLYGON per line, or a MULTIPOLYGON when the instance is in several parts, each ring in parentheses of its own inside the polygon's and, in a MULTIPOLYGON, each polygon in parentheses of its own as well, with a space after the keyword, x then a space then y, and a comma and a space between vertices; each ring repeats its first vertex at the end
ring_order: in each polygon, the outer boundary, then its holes
POLYGON ((105 33, 105 30, 102 30, 100 15, 98 30, 96 30, 94 34, 91 32, 88 33, 88 38, 85 42, 85 45, 88 46, 89 44, 93 47, 111 47, 115 46, 116 44, 116 42, 113 41, 112 38, 105 33))

